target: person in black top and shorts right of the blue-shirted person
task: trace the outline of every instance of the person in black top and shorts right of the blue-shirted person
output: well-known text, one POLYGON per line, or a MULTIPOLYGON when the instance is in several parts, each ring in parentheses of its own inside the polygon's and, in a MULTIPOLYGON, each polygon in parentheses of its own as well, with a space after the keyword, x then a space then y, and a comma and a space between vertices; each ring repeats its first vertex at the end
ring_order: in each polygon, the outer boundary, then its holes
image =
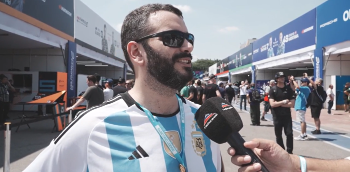
MULTIPOLYGON (((307 77, 307 74, 305 75, 307 77)), ((322 87, 323 80, 321 78, 316 78, 315 82, 312 83, 312 92, 309 96, 311 96, 311 104, 310 104, 310 110, 311 110, 311 117, 313 118, 313 121, 316 126, 316 130, 312 131, 311 133, 314 135, 321 134, 321 131, 319 130, 321 121, 319 120, 319 116, 321 114, 322 110, 322 94, 324 92, 324 89, 322 87)))

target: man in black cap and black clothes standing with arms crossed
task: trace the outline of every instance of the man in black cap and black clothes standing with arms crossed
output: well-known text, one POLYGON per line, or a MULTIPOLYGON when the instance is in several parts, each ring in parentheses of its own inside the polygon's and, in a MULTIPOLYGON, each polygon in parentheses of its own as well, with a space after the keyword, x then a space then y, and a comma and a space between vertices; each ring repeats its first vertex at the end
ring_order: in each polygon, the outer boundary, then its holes
MULTIPOLYGON (((294 106, 295 97, 293 88, 284 85, 284 78, 283 72, 275 74, 277 84, 270 89, 268 99, 271 106, 276 143, 285 149, 282 139, 282 130, 284 129, 284 134, 287 137, 286 151, 292 154, 293 130, 290 108, 294 106)), ((290 79, 293 80, 293 77, 290 77, 290 79)))

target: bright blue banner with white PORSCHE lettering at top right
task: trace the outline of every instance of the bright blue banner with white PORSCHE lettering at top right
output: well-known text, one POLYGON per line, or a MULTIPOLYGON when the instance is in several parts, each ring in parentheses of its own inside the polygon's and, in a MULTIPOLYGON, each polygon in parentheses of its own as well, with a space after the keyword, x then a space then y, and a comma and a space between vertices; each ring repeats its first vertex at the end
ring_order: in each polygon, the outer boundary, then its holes
POLYGON ((327 0, 316 9, 317 48, 350 40, 350 0, 327 0))

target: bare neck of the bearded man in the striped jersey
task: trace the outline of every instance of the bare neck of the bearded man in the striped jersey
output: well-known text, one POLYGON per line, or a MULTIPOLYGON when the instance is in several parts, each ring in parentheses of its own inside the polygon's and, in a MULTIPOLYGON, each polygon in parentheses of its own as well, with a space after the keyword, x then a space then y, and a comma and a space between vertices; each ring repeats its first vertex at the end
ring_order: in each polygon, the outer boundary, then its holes
POLYGON ((157 86, 157 89, 154 89, 148 84, 140 84, 142 82, 135 82, 134 87, 128 91, 137 103, 156 114, 168 115, 177 111, 176 90, 166 88, 165 86, 164 88, 157 86))

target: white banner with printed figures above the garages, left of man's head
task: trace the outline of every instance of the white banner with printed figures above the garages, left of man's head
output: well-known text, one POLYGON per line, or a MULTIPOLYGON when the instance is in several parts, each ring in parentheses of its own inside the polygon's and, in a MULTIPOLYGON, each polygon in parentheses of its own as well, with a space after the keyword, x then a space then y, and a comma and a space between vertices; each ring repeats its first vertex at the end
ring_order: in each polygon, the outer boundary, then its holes
POLYGON ((94 47, 93 50, 101 54, 124 59, 120 33, 80 0, 75 0, 75 40, 77 44, 94 47))

